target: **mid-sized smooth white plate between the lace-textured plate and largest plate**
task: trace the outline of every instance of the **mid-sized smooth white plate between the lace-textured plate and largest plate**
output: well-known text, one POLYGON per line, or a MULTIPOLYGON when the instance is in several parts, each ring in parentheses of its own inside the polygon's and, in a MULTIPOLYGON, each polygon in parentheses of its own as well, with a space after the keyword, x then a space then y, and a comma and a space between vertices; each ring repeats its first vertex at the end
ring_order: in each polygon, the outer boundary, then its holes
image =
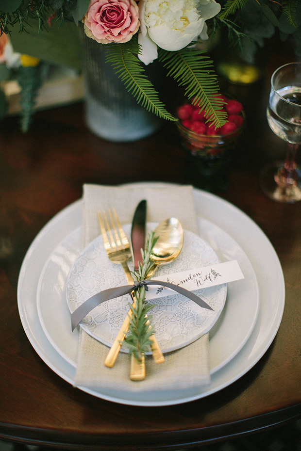
MULTIPOLYGON (((226 313, 210 331, 210 372, 213 374, 228 363, 250 337, 259 311, 259 294, 251 263, 239 245, 219 227, 204 219, 198 218, 198 225, 202 234, 216 237, 215 242, 224 261, 238 261, 245 277, 237 284, 228 284, 230 294, 226 313)), ((74 367, 78 330, 70 334, 65 286, 73 261, 81 254, 81 243, 82 227, 79 227, 50 253, 37 288, 37 311, 43 331, 56 351, 74 367)), ((122 280, 122 274, 120 277, 122 280)))

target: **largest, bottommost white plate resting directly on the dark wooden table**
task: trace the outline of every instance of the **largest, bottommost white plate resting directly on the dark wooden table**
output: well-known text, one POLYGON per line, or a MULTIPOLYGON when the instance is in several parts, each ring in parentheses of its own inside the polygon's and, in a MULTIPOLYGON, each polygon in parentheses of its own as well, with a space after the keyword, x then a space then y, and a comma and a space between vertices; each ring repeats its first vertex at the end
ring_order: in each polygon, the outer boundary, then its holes
MULTIPOLYGON (((167 186, 159 183, 147 185, 167 186)), ((139 184, 135 186, 139 187, 139 184)), ((170 393, 165 399, 162 399, 162 394, 157 399, 153 394, 151 399, 146 399, 144 394, 129 395, 121 389, 114 393, 105 390, 100 393, 81 387, 87 393, 117 403, 141 406, 172 405, 200 399, 229 386, 250 370, 274 339, 284 310, 284 278, 275 250, 262 230, 241 210, 213 194, 200 190, 194 190, 194 196, 197 214, 207 220, 199 221, 200 235, 216 250, 220 261, 232 257, 228 253, 229 249, 223 247, 224 243, 218 241, 219 234, 208 230, 210 222, 219 226, 239 244, 254 268, 260 299, 264 299, 265 302, 259 304, 258 319, 249 339, 226 365, 213 372, 210 385, 203 389, 178 390, 176 393, 170 393)), ((21 267, 17 291, 20 318, 33 348, 53 371, 70 384, 74 380, 75 367, 57 352, 45 335, 38 318, 36 294, 40 273, 48 256, 65 237, 81 226, 82 204, 82 200, 79 200, 62 210, 34 239, 21 267)), ((224 308, 218 323, 226 310, 227 308, 224 308)), ((218 329, 222 326, 223 322, 218 329)), ((216 326, 213 329, 215 328, 216 326)), ((213 330, 211 332, 214 333, 213 330)), ((214 343, 216 335, 214 333, 210 343, 214 343)), ((76 335, 73 339, 77 339, 76 335)))

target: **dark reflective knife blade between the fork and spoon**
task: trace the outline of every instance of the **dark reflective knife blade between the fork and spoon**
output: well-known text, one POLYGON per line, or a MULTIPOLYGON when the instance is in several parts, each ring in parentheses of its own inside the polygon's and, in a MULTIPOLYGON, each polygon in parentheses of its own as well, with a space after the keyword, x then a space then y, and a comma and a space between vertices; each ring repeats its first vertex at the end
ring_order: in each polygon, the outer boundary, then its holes
POLYGON ((137 205, 132 222, 131 241, 134 271, 138 271, 139 262, 142 262, 141 249, 145 247, 145 228, 146 228, 146 200, 141 200, 137 205))

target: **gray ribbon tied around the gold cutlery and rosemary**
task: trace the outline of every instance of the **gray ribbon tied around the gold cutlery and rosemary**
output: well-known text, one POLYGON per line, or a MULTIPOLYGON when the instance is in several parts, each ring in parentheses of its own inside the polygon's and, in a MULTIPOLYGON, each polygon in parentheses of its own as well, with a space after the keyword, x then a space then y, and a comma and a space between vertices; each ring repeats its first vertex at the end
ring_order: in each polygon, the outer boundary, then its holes
POLYGON ((183 287, 174 285, 170 282, 162 282, 160 280, 142 280, 141 282, 134 282, 134 285, 121 285, 116 288, 108 288, 107 290, 100 291, 94 294, 89 299, 87 299, 81 306, 79 306, 73 313, 71 313, 71 327, 72 332, 75 327, 84 319, 84 317, 93 310, 94 307, 99 306, 109 299, 118 298, 119 296, 124 296, 125 294, 130 294, 133 290, 138 290, 139 287, 144 287, 148 291, 148 285, 161 285, 163 287, 170 288, 171 290, 177 291, 183 294, 187 298, 191 299, 193 302, 198 304, 200 307, 208 308, 213 310, 205 301, 203 301, 199 296, 186 290, 183 287))

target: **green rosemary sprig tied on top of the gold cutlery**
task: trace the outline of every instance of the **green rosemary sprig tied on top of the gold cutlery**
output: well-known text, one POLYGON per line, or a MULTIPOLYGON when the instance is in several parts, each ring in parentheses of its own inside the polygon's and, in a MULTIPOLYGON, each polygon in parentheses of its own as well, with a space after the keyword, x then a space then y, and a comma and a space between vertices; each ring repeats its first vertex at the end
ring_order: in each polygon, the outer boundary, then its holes
MULTIPOLYGON (((133 277, 138 282, 145 280, 150 272, 153 263, 151 261, 151 251, 158 237, 154 237, 154 232, 148 236, 145 250, 142 251, 142 263, 139 263, 138 271, 133 272, 133 277)), ((145 318, 145 315, 151 310, 152 305, 145 302, 145 287, 139 287, 135 291, 136 305, 131 305, 132 318, 129 325, 129 331, 124 339, 125 344, 129 348, 129 353, 133 354, 137 360, 141 361, 143 354, 151 349, 151 335, 154 333, 152 325, 147 324, 147 320, 151 322, 151 315, 145 318)))

